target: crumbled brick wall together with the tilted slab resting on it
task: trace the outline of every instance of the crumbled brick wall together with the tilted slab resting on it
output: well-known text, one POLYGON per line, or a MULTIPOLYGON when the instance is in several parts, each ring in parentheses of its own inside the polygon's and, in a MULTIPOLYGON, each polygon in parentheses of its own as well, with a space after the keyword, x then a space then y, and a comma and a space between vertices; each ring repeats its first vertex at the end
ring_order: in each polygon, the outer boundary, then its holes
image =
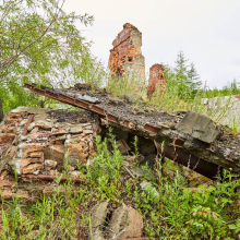
MULTIPOLYGON (((81 182, 77 163, 91 161, 94 135, 105 137, 109 127, 127 158, 131 158, 137 136, 142 164, 154 167, 159 153, 211 179, 223 168, 240 172, 239 137, 224 132, 223 125, 205 116, 192 111, 168 115, 144 103, 136 108, 128 97, 115 98, 107 91, 92 92, 81 84, 70 89, 37 88, 29 84, 25 87, 85 110, 19 107, 5 116, 0 125, 0 188, 9 197, 10 190, 15 194, 15 173, 24 181, 53 180, 56 172, 63 171, 64 157, 69 175, 81 182), (80 95, 89 101, 80 99, 80 95)), ((27 184, 17 189, 29 193, 27 184)))

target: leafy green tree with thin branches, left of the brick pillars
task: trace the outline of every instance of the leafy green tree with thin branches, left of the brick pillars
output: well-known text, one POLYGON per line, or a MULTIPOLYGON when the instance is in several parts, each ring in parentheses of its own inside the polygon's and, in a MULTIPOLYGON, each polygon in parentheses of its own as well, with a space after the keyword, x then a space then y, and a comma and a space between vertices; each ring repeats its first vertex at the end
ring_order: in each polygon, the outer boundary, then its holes
POLYGON ((16 106, 39 106, 39 97, 23 89, 25 82, 69 86, 100 85, 101 63, 89 52, 75 23, 93 16, 67 14, 64 0, 4 0, 0 3, 0 98, 4 112, 16 106))

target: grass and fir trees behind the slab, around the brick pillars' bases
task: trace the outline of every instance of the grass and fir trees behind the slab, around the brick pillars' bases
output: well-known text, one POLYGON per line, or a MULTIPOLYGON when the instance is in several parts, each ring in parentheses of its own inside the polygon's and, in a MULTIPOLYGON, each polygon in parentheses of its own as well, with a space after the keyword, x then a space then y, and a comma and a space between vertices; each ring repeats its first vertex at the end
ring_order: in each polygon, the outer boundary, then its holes
MULTIPOLYGON (((156 89, 151 99, 147 98, 147 82, 136 83, 128 76, 128 73, 121 79, 115 75, 109 77, 107 89, 116 97, 132 98, 133 105, 139 105, 142 100, 160 111, 192 110, 220 123, 225 123, 232 108, 233 95, 240 94, 236 80, 221 89, 209 89, 206 84, 203 85, 194 63, 189 64, 182 51, 177 56, 175 68, 165 64, 164 75, 166 87, 156 89), (209 98, 213 99, 208 100, 209 98)), ((239 121, 240 119, 236 117, 229 124, 235 133, 240 131, 239 121)))

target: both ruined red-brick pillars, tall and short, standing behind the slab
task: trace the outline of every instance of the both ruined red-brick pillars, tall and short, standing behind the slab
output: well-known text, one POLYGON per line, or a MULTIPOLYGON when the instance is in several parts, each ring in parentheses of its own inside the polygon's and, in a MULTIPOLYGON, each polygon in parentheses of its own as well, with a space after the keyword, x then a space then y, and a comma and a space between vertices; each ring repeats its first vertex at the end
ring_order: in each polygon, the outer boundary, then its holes
MULTIPOLYGON (((142 33, 132 24, 125 23, 112 43, 108 67, 111 76, 127 76, 135 83, 145 82, 145 59, 142 55, 142 33)), ((152 98, 158 87, 165 88, 164 65, 154 64, 149 69, 147 97, 152 98)))

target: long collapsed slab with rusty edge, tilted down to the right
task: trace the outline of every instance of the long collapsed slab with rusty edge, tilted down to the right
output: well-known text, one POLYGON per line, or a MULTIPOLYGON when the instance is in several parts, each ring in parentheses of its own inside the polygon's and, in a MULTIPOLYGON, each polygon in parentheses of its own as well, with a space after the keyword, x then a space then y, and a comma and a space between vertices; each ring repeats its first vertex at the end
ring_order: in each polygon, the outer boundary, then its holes
POLYGON ((106 91, 92 92, 81 84, 69 89, 38 88, 31 84, 25 84, 24 87, 45 97, 95 112, 99 116, 101 125, 112 125, 124 132, 149 139, 166 157, 211 179, 219 176, 223 168, 240 172, 239 137, 224 133, 223 125, 211 122, 212 120, 206 117, 197 116, 200 122, 208 121, 207 127, 193 129, 190 133, 184 124, 188 127, 189 123, 191 129, 194 122, 188 120, 196 117, 194 112, 168 115, 149 109, 144 103, 139 109, 133 109, 132 99, 128 96, 115 98, 106 91), (216 127, 217 133, 215 134, 213 130, 213 135, 208 137, 211 124, 213 128, 216 127))

